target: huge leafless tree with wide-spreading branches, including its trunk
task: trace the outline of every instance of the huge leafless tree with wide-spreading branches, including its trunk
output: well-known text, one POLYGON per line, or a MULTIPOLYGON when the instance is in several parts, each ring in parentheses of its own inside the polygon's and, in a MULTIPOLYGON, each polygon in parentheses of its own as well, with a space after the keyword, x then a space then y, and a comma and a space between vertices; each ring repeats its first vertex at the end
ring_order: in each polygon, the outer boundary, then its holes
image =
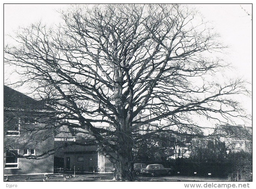
POLYGON ((115 179, 135 179, 134 146, 155 133, 196 130, 196 115, 222 124, 243 117, 232 95, 247 94, 244 83, 208 81, 223 68, 208 55, 224 47, 189 8, 83 5, 61 15, 59 26, 21 29, 18 45, 4 49, 5 63, 19 68, 20 83, 35 87, 61 125, 93 136, 115 179))

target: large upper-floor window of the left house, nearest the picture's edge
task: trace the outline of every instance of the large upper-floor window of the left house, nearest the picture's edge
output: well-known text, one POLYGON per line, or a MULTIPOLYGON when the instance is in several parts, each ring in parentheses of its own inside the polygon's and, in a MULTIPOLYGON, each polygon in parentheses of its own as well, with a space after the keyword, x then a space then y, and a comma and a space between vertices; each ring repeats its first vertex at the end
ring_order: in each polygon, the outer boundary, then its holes
POLYGON ((5 117, 6 136, 19 136, 21 120, 17 117, 5 117))

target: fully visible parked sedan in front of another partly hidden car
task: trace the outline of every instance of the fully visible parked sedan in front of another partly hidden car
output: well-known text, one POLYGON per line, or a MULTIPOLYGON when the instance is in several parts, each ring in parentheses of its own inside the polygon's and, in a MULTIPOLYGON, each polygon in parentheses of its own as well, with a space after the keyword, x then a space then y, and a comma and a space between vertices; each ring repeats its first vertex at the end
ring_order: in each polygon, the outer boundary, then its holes
POLYGON ((155 174, 172 174, 171 168, 164 168, 161 164, 150 164, 147 165, 145 169, 141 169, 140 173, 142 174, 150 174, 151 176, 154 176, 155 174))

